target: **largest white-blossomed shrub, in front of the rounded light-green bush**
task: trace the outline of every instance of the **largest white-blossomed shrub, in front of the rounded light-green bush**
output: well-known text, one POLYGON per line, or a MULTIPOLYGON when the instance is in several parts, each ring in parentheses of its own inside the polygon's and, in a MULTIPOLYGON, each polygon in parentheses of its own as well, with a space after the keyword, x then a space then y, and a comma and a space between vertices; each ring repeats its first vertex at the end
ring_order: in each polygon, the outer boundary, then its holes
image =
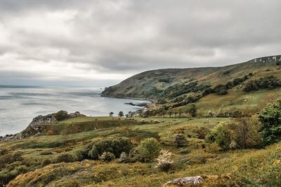
POLYGON ((171 160, 171 152, 169 152, 168 150, 161 150, 160 155, 158 156, 158 158, 156 158, 156 160, 157 165, 155 168, 160 169, 164 172, 168 172, 173 167, 172 164, 174 163, 174 161, 171 160))

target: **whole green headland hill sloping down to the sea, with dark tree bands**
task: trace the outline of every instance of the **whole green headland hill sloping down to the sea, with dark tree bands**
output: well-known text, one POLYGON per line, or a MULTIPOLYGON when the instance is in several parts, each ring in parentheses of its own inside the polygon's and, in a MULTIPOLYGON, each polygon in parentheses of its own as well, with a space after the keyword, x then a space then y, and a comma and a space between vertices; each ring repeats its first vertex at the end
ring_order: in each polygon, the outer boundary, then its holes
POLYGON ((277 55, 226 67, 145 71, 106 88, 102 95, 153 99, 156 108, 159 108, 157 104, 163 104, 165 111, 195 102, 203 116, 209 111, 236 108, 256 112, 281 96, 280 61, 281 56, 277 55), (270 76, 274 77, 270 79, 270 76), (257 84, 254 81, 259 82, 259 88, 252 88, 257 84))

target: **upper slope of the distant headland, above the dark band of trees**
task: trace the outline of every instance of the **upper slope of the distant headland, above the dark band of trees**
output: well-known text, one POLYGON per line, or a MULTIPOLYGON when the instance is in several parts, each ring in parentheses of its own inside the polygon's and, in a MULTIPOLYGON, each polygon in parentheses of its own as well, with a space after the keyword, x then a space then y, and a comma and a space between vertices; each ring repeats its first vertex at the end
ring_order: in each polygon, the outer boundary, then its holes
POLYGON ((157 69, 137 74, 118 85, 110 86, 103 92, 107 97, 135 97, 157 99, 171 85, 181 85, 197 81, 199 85, 226 84, 234 78, 246 74, 259 73, 276 67, 281 55, 259 57, 248 62, 226 67, 204 67, 190 69, 157 69))

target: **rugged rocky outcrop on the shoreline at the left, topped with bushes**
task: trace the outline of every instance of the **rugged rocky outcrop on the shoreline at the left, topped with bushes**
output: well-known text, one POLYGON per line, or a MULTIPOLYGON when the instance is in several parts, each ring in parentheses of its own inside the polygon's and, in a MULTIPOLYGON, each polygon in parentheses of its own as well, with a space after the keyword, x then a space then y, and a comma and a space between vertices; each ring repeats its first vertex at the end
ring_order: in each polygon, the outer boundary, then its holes
POLYGON ((67 113, 67 111, 58 111, 57 113, 51 113, 46 116, 37 116, 33 118, 30 125, 27 126, 25 130, 19 132, 17 134, 7 134, 4 137, 0 137, 0 141, 11 141, 15 139, 23 139, 27 137, 32 137, 36 134, 41 134, 46 130, 44 125, 58 123, 60 120, 65 120, 67 118, 77 118, 84 117, 84 114, 79 113, 79 111, 75 113, 67 113))

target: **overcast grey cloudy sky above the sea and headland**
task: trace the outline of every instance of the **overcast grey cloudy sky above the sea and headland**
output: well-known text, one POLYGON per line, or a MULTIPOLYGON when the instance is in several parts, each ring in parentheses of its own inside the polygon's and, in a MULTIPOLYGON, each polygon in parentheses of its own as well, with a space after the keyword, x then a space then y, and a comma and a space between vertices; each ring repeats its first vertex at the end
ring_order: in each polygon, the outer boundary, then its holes
POLYGON ((1 0, 0 85, 108 86, 281 54, 280 0, 1 0))

